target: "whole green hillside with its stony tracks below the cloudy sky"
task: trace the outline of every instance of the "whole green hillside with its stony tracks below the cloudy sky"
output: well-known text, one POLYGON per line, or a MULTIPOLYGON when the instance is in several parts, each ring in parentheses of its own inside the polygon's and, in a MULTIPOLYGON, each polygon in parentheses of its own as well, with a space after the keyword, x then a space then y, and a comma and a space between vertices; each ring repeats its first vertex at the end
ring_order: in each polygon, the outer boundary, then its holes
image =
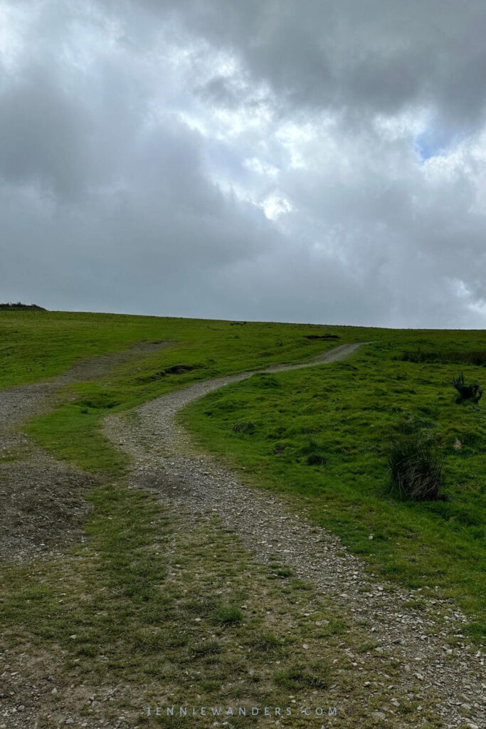
POLYGON ((485 410, 452 381, 485 364, 482 331, 0 311, 11 725, 478 726, 485 410), (391 488, 415 441, 436 498, 391 488))

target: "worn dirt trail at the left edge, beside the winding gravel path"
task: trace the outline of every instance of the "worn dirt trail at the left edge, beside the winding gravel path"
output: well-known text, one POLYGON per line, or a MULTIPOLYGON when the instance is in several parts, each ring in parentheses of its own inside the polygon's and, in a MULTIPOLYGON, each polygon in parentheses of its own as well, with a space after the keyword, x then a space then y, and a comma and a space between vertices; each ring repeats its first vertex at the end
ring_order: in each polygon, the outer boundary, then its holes
POLYGON ((77 362, 50 381, 0 390, 0 554, 4 558, 50 558, 61 543, 79 539, 90 510, 83 495, 96 483, 85 472, 52 459, 18 426, 52 409, 62 387, 101 378, 117 364, 168 344, 138 342, 128 351, 77 362))

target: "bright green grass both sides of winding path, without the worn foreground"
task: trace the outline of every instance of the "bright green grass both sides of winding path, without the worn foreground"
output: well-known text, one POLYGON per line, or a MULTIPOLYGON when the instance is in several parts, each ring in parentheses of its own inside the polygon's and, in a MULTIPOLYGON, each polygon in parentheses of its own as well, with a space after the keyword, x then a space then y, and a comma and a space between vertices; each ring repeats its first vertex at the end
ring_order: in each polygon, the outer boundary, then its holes
POLYGON ((486 383, 485 332, 0 311, 0 335, 1 387, 52 378, 141 341, 168 343, 65 386, 55 409, 27 426, 58 457, 105 476, 125 465, 101 433, 106 414, 192 381, 371 342, 345 362, 216 391, 187 408, 184 424, 200 445, 245 467, 248 483, 286 494, 385 577, 438 585, 481 613, 485 410, 455 402, 451 383, 459 372, 486 383), (444 459, 444 500, 388 493, 389 444, 404 433, 421 434, 444 459))

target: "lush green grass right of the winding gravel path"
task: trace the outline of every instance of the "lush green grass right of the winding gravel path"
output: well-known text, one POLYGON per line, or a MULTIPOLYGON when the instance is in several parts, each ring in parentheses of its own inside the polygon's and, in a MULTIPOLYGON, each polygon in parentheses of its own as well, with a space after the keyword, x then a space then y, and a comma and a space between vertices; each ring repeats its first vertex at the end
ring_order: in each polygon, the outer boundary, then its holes
MULTIPOLYGON (((409 588, 438 585, 469 612, 469 631, 479 636, 485 623, 486 411, 455 402, 457 364, 399 359, 420 343, 450 351, 451 332, 381 336, 345 362, 273 374, 271 383, 268 375, 256 375, 214 391, 179 417, 197 443, 245 467, 248 483, 286 494, 383 577, 409 588), (444 501, 404 502, 389 493, 391 440, 414 432, 444 456, 444 501)), ((482 332, 453 335, 455 350, 477 351, 484 343, 482 332)), ((467 379, 486 381, 484 367, 461 367, 467 379)))

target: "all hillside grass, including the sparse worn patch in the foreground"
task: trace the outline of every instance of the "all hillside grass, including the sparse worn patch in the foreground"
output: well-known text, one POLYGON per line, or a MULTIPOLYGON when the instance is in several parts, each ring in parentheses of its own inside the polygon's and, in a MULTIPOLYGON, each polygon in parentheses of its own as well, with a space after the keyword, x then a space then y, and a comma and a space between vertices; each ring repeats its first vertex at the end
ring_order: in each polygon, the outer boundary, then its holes
MULTIPOLYGON (((48 677, 43 728, 70 713, 98 718, 97 706, 113 725, 123 712, 133 725, 186 726, 144 717, 144 707, 286 706, 289 695, 297 705, 337 704, 343 726, 379 725, 372 712, 388 703, 388 681, 398 686, 404 668, 375 650, 370 626, 351 629, 353 615, 277 558, 269 568, 256 564, 216 520, 175 514, 144 491, 112 483, 125 461, 101 432, 107 414, 197 379, 305 359, 340 343, 375 342, 346 362, 256 375, 195 402, 181 419, 204 448, 245 466, 248 483, 275 489, 306 519, 340 534, 375 572, 457 599, 479 636, 485 410, 456 404, 451 383, 460 368, 484 384, 486 370, 471 364, 475 355, 450 362, 450 352, 485 351, 482 332, 0 311, 0 335, 2 387, 51 378, 140 340, 175 342, 137 354, 109 377, 67 387, 64 402, 28 424, 59 457, 105 477, 89 496, 85 542, 0 575, 0 655, 26 685, 48 677), (306 336, 329 332, 340 339, 306 336), (434 361, 402 359, 419 348, 434 361), (400 432, 421 432, 444 453, 447 501, 415 504, 386 493, 388 443, 400 432)), ((441 613, 417 596, 408 609, 418 617, 441 613)), ((422 690, 413 678, 405 689, 422 690)), ((415 704, 402 690, 396 695, 401 715, 388 724, 415 726, 415 704)), ((439 727, 434 701, 420 698, 421 716, 439 727)), ((258 719, 275 718, 266 721, 258 719)), ((250 722, 235 717, 233 725, 250 722)))

